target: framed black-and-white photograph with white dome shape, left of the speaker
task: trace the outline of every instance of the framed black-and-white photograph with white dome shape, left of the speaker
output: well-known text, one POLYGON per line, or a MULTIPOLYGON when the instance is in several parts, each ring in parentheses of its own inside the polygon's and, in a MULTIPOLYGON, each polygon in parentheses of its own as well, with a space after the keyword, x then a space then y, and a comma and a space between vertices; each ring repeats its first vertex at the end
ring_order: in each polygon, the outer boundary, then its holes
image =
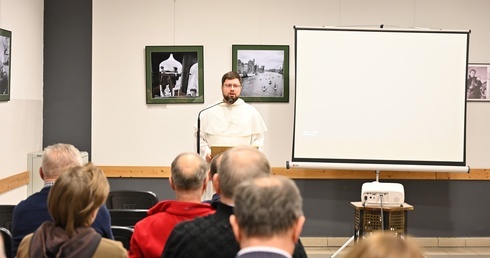
POLYGON ((146 103, 204 103, 202 46, 147 46, 146 103))

